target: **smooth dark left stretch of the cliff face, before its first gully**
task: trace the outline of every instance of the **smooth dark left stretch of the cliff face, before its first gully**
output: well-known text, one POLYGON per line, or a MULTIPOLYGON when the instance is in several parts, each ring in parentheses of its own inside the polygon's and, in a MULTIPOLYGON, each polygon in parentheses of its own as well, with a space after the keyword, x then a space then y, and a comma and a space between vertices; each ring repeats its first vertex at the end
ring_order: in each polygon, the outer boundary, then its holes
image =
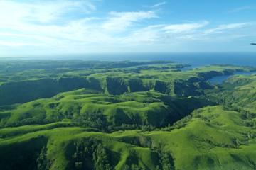
POLYGON ((0 86, 0 105, 50 98, 60 92, 81 88, 102 91, 100 82, 96 79, 80 77, 10 82, 0 86))

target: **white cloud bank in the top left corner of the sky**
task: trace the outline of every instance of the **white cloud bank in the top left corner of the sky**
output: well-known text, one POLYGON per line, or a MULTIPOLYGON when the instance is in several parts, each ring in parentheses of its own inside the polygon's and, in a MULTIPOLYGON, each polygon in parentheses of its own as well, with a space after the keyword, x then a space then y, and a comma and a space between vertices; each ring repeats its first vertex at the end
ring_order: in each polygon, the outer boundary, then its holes
POLYGON ((44 1, 18 2, 0 1, 0 26, 14 26, 18 23, 49 23, 65 13, 90 13, 95 6, 90 1, 44 1))

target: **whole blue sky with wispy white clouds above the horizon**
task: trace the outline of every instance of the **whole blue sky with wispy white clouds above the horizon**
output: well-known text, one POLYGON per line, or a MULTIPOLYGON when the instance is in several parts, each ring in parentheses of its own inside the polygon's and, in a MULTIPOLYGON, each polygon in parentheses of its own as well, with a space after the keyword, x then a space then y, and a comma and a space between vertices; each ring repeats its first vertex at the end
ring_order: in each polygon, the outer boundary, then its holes
POLYGON ((0 0, 0 56, 256 52, 255 0, 0 0))

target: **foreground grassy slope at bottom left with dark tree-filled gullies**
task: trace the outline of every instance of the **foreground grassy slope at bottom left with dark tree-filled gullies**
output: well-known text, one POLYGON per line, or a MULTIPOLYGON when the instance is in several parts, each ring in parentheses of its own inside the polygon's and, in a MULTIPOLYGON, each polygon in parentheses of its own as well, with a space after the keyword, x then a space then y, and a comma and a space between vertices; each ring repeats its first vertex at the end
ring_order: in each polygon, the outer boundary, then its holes
POLYGON ((131 169, 139 166, 156 169, 161 166, 158 152, 122 142, 122 135, 87 132, 85 128, 55 128, 11 137, 0 142, 1 168, 131 169))

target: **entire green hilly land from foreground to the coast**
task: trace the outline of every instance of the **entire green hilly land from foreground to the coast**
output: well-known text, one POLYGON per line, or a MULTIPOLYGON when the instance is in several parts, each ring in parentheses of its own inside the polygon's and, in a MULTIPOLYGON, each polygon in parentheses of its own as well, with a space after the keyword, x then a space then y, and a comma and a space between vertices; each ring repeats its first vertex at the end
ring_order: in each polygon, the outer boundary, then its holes
POLYGON ((3 61, 1 169, 255 169, 251 67, 3 61))

